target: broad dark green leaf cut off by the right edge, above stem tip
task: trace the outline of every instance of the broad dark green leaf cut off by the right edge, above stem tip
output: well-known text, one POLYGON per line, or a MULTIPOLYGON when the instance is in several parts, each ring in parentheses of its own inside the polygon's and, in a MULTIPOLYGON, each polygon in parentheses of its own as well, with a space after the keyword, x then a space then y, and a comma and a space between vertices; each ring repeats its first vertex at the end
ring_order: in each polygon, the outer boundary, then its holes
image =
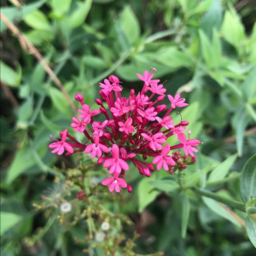
POLYGON ((256 198, 256 154, 242 167, 240 191, 241 199, 247 203, 251 197, 256 198))

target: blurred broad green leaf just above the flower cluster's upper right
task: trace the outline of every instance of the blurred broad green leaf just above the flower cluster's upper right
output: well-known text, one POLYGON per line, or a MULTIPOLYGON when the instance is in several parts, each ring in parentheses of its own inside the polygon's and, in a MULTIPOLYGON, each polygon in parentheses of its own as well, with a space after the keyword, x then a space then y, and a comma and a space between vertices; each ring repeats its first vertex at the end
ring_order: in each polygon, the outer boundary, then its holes
POLYGON ((180 67, 193 67, 194 65, 189 55, 172 46, 160 49, 155 55, 155 60, 167 67, 172 67, 173 70, 180 67))

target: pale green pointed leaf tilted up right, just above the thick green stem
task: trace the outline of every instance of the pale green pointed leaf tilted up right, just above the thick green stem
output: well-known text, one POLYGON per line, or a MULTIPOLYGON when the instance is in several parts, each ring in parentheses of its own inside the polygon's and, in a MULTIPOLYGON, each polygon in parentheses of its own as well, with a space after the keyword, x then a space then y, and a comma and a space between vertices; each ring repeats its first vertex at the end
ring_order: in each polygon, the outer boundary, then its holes
POLYGON ((234 162, 236 161, 236 158, 237 154, 233 154, 229 158, 224 160, 224 162, 222 162, 220 165, 215 167, 212 170, 207 182, 215 182, 220 179, 223 179, 230 171, 230 168, 231 166, 233 166, 234 162))

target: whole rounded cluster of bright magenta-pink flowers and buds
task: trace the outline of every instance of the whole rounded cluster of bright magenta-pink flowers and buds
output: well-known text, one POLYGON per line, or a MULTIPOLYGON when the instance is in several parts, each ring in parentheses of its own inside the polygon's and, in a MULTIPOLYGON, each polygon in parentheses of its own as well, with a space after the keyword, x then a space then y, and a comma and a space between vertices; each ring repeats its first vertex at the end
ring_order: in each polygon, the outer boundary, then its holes
MULTIPOLYGON (((85 142, 79 143, 66 129, 60 133, 61 141, 55 140, 49 145, 49 148, 54 148, 52 153, 63 154, 66 149, 66 155, 84 151, 91 158, 97 157, 98 165, 103 164, 112 175, 102 184, 109 186, 109 191, 116 192, 120 191, 120 187, 131 192, 131 186, 125 182, 125 172, 129 171, 128 160, 141 175, 147 177, 154 172, 154 165, 157 170, 164 168, 170 173, 177 170, 177 155, 170 153, 174 149, 183 148, 184 153, 194 157, 195 161, 194 152, 198 151, 195 147, 201 142, 187 139, 184 131, 189 125, 188 121, 174 125, 169 115, 173 109, 188 104, 178 93, 174 97, 167 95, 169 106, 160 104, 166 97, 166 89, 163 84, 159 84, 159 79, 153 80, 154 72, 156 70, 152 68, 150 73, 145 71, 143 75, 137 74, 144 82, 143 90, 137 95, 135 90, 131 90, 128 98, 122 96, 123 87, 117 77, 111 75, 104 79, 99 92, 102 99, 96 99, 99 109, 90 109, 84 103, 84 97, 77 94, 75 99, 80 102, 82 109, 79 109, 78 118, 73 117, 71 127, 74 131, 84 133, 85 142), (108 107, 103 102, 107 102, 108 107), (103 122, 94 120, 100 113, 104 115, 103 122), (180 143, 172 146, 166 143, 171 136, 177 137, 180 143), (67 138, 70 141, 67 142, 67 138), (145 161, 148 157, 153 157, 152 163, 145 161)), ((181 170, 183 166, 178 168, 181 170)))

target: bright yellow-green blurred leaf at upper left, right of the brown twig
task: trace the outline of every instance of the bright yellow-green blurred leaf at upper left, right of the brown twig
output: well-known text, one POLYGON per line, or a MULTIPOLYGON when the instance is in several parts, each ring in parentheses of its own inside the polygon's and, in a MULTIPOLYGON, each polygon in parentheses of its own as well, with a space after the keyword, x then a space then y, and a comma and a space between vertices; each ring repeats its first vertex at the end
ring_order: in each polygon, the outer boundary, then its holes
POLYGON ((40 31, 51 32, 49 20, 40 10, 34 10, 24 18, 26 25, 40 31))

